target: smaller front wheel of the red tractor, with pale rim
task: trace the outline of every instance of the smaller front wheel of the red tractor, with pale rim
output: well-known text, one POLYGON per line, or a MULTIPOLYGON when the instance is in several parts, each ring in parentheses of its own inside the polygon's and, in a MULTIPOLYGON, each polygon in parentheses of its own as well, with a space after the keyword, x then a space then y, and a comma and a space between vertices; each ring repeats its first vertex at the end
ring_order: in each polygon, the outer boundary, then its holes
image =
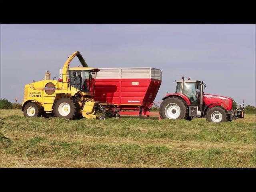
POLYGON ((228 113, 221 106, 214 106, 207 110, 206 120, 208 122, 215 122, 215 123, 226 122, 228 121, 228 113))

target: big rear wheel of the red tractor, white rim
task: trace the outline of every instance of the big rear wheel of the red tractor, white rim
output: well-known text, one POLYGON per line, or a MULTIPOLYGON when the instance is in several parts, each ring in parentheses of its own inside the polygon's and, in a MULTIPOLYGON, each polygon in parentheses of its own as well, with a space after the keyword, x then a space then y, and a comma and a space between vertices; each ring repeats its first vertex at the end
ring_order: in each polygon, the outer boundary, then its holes
POLYGON ((188 106, 181 98, 168 97, 160 105, 160 117, 162 119, 186 119, 188 106))

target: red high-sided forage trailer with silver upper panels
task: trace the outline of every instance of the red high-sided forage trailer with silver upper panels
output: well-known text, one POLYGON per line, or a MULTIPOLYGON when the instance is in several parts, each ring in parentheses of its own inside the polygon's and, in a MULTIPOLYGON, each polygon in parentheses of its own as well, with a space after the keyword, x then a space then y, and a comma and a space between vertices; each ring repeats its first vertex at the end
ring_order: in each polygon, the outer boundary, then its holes
POLYGON ((150 108, 162 82, 162 70, 152 67, 99 69, 94 100, 114 104, 120 115, 159 116, 159 112, 150 112, 150 108))

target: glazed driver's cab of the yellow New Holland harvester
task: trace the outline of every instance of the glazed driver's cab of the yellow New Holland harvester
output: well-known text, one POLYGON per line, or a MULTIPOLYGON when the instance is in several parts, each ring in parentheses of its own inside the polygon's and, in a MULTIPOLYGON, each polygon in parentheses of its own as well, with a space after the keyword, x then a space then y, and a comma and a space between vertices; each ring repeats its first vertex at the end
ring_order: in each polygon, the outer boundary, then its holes
POLYGON ((68 80, 72 87, 87 94, 94 94, 98 68, 73 67, 68 69, 68 80))

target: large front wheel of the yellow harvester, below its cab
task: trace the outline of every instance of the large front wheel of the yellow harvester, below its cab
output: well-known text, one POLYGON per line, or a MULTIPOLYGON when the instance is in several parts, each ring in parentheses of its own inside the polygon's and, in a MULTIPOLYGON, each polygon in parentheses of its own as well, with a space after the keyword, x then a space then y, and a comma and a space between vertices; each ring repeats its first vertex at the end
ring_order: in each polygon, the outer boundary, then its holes
MULTIPOLYGON (((65 105, 65 106, 68 106, 68 105, 65 105)), ((68 97, 68 96, 58 98, 53 104, 54 116, 60 117, 60 118, 77 119, 79 109, 80 107, 78 102, 74 98, 68 97), (59 107, 61 108, 61 105, 64 105, 64 103, 68 104, 70 108, 70 109, 67 109, 66 114, 64 114, 62 110, 59 111, 59 107)))

